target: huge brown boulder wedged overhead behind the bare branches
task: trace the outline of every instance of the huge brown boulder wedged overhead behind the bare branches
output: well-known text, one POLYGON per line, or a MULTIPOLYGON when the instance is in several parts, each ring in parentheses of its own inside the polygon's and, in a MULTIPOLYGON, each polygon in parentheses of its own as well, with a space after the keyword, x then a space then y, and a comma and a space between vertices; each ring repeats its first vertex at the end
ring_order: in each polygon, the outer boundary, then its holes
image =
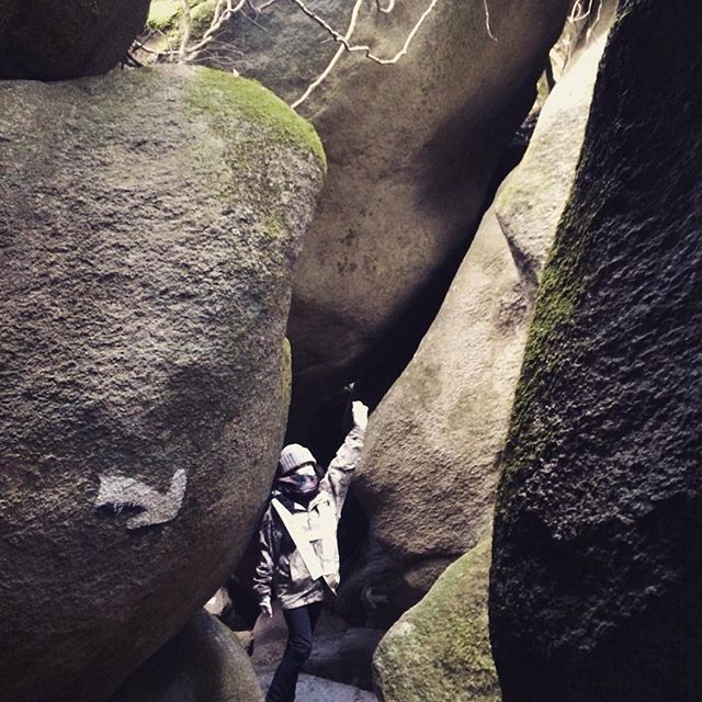
MULTIPOLYGON (((353 3, 310 2, 342 33, 353 3)), ((392 56, 428 5, 365 3, 354 41, 392 56)), ((394 66, 342 56, 299 106, 319 129, 329 176, 295 278, 293 432, 371 349, 446 259, 464 250, 500 152, 525 116, 568 0, 439 3, 394 66)), ((337 50, 293 3, 231 31, 234 65, 297 99, 337 50)), ((226 53, 226 52, 225 52, 226 53)), ((293 437, 295 434, 293 433, 293 437)))

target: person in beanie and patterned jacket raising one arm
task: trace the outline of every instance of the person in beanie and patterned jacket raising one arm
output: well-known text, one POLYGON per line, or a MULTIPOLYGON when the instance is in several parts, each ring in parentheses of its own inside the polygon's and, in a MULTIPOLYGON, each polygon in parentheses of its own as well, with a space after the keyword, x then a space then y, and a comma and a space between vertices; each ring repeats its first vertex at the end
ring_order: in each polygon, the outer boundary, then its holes
POLYGON ((270 503, 259 533, 260 559, 253 591, 261 612, 273 615, 280 600, 287 624, 287 646, 265 702, 293 702, 299 671, 312 653, 312 637, 327 590, 339 586, 337 526, 353 471, 361 457, 369 408, 351 406, 353 429, 324 474, 312 452, 299 444, 280 455, 270 503))

